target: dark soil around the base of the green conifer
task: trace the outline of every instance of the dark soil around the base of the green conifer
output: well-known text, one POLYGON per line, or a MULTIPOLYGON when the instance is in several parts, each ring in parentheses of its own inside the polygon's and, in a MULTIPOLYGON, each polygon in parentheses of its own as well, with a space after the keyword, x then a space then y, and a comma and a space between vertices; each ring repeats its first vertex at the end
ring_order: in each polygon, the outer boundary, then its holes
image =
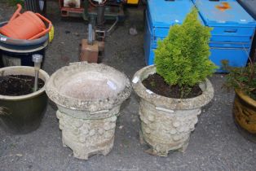
MULTIPOLYGON (((157 73, 149 75, 142 83, 148 90, 167 98, 179 99, 181 97, 181 88, 179 85, 168 85, 164 78, 157 73)), ((202 94, 199 85, 190 88, 190 93, 185 94, 183 99, 194 98, 202 94)))

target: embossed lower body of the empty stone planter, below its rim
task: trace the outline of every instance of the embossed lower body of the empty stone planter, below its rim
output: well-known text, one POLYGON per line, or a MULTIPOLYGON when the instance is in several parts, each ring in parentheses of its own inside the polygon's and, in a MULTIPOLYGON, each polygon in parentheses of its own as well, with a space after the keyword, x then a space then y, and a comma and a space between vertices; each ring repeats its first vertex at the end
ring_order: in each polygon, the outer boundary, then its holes
POLYGON ((60 111, 56 114, 62 130, 63 146, 70 147, 74 157, 88 160, 95 154, 106 156, 113 148, 117 116, 88 120, 68 116, 60 111))

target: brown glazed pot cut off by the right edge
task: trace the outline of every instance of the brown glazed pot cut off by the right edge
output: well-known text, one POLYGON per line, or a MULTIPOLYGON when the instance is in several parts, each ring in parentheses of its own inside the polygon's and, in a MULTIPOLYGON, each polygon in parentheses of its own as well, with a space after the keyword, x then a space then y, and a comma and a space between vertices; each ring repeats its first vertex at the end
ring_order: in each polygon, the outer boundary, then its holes
POLYGON ((235 90, 234 121, 245 138, 256 142, 256 101, 241 90, 235 90))

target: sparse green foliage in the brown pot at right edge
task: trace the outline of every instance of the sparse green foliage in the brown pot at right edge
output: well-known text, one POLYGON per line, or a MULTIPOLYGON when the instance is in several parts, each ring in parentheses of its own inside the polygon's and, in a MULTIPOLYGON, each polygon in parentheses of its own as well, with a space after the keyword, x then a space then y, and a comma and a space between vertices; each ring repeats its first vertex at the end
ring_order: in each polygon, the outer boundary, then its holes
POLYGON ((225 86, 242 90, 250 98, 256 100, 256 64, 251 61, 245 68, 235 68, 223 61, 223 68, 229 73, 226 76, 225 86))

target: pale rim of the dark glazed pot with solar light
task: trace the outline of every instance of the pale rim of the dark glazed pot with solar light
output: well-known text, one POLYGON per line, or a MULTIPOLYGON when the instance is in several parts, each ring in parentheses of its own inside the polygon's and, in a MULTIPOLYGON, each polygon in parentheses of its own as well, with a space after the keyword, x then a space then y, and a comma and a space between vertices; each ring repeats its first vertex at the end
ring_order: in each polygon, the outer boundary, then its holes
MULTIPOLYGON (((34 74, 34 68, 33 67, 29 67, 29 66, 11 66, 11 67, 5 67, 5 68, 0 68, 0 75, 4 76, 4 72, 7 70, 26 70, 26 71, 30 71, 31 73, 34 74)), ((29 75, 29 76, 34 76, 33 74, 29 75)), ((22 75, 22 74, 20 74, 22 75)), ((45 89, 46 89, 46 81, 50 78, 50 76, 48 75, 47 72, 45 72, 44 70, 40 69, 39 70, 39 77, 44 81, 44 85, 43 87, 36 91, 33 92, 31 94, 26 94, 26 95, 20 95, 20 96, 11 96, 11 95, 1 95, 0 94, 0 99, 4 99, 4 100, 10 100, 10 101, 17 101, 17 100, 24 100, 24 99, 31 99, 35 96, 38 96, 42 93, 44 93, 45 89), (42 77, 41 77, 42 76, 42 77)))

